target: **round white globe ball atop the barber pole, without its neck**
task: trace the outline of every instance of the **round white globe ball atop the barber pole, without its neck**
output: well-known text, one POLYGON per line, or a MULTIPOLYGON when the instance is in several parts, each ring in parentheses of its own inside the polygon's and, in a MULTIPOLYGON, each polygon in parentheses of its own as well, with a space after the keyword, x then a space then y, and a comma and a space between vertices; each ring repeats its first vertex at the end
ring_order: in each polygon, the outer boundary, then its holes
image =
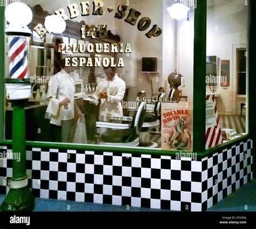
POLYGON ((33 13, 28 5, 14 2, 6 7, 5 18, 12 26, 26 26, 31 22, 33 13))

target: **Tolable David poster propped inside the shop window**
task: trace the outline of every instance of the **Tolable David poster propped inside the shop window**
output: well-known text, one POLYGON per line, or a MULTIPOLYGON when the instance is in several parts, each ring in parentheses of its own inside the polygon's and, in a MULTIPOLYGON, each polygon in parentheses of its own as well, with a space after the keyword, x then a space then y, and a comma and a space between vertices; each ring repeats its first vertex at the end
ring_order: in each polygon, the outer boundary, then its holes
POLYGON ((162 103, 161 145, 164 150, 192 150, 192 110, 187 102, 162 103))

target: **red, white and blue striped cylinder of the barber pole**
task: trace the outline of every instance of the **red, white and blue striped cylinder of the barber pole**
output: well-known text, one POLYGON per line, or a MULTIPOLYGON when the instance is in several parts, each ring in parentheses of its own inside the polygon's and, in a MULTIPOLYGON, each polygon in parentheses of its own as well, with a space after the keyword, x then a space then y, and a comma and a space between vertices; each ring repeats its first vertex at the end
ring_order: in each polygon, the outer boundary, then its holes
POLYGON ((8 36, 9 78, 28 79, 28 37, 8 36))

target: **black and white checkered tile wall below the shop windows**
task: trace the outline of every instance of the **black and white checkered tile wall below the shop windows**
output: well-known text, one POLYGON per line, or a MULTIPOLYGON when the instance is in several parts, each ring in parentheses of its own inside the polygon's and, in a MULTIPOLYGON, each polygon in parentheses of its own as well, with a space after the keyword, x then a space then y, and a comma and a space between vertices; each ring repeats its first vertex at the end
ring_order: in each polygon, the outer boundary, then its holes
MULTIPOLYGON (((29 185, 36 197, 205 211, 252 179, 251 152, 248 140, 198 161, 43 148, 26 154, 29 185)), ((0 193, 5 194, 11 161, 0 163, 0 193)))

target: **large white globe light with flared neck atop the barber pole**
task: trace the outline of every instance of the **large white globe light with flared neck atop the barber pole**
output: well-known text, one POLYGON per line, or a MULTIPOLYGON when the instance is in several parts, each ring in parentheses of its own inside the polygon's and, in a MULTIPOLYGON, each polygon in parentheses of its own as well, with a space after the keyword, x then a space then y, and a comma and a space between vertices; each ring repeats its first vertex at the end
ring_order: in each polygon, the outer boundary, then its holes
POLYGON ((27 25, 32 21, 33 13, 28 5, 21 2, 11 3, 5 9, 5 18, 9 22, 6 32, 31 33, 27 25))

